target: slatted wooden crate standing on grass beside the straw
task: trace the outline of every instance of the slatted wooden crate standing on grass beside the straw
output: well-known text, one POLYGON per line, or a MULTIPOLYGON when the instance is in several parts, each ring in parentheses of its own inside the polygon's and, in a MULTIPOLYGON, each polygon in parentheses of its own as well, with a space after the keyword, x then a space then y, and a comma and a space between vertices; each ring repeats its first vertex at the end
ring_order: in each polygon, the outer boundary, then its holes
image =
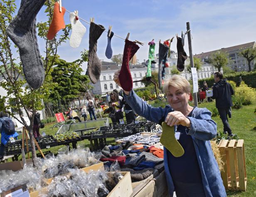
POLYGON ((221 140, 218 145, 224 170, 221 171, 224 187, 228 190, 246 191, 246 166, 244 140, 221 140))

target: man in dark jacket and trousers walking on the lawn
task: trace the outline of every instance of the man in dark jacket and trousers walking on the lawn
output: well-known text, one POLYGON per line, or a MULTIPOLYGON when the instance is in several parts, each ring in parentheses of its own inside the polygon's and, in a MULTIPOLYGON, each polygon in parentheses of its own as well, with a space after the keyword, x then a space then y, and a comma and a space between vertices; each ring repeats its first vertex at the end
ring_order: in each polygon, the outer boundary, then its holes
POLYGON ((220 72, 214 73, 214 81, 215 85, 213 86, 212 98, 216 99, 216 107, 224 126, 223 133, 228 133, 229 136, 234 136, 227 118, 229 109, 233 106, 231 95, 234 95, 234 90, 232 86, 223 79, 223 74, 220 72))

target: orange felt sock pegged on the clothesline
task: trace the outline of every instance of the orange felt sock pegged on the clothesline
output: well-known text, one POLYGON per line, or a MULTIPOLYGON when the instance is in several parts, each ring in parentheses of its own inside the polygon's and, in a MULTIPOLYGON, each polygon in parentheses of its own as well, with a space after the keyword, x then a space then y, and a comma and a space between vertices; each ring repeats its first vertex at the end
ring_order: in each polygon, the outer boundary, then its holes
POLYGON ((64 22, 64 14, 66 12, 65 7, 62 7, 62 12, 59 12, 59 3, 54 3, 54 10, 53 10, 53 17, 52 23, 49 27, 47 39, 52 40, 54 36, 59 32, 59 30, 64 29, 65 22, 64 22))

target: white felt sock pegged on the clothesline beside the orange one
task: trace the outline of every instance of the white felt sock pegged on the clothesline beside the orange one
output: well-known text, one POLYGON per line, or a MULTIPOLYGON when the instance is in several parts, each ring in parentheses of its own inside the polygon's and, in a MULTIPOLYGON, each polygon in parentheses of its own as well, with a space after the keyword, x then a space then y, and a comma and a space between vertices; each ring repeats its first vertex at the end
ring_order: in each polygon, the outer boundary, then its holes
POLYGON ((69 19, 70 19, 71 27, 72 27, 72 33, 69 38, 69 44, 70 44, 70 46, 76 48, 80 45, 81 40, 86 32, 86 28, 80 22, 79 19, 76 20, 76 14, 74 12, 71 12, 69 14, 69 19))

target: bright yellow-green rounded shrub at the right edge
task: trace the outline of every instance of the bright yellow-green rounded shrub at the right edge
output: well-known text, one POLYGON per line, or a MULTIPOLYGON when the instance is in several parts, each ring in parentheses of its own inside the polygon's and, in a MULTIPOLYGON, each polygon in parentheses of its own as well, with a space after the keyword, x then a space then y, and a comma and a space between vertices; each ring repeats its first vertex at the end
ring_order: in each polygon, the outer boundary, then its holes
POLYGON ((235 97, 236 99, 241 99, 242 105, 251 105, 255 98, 255 90, 253 88, 248 87, 248 85, 242 81, 240 86, 235 90, 235 97))

